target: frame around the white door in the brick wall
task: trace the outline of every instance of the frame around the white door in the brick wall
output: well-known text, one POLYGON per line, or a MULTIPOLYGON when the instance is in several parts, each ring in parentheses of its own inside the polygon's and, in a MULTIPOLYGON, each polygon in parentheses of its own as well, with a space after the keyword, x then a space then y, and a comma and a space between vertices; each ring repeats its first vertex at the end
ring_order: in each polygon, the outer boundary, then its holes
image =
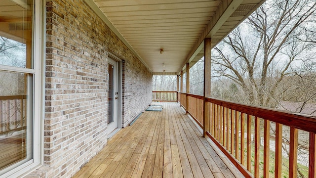
POLYGON ((117 129, 115 129, 111 133, 108 133, 108 138, 111 138, 122 128, 122 88, 123 88, 122 74, 123 73, 122 73, 122 60, 111 52, 108 52, 108 58, 111 58, 112 60, 118 63, 118 109, 117 109, 118 122, 117 122, 117 129))

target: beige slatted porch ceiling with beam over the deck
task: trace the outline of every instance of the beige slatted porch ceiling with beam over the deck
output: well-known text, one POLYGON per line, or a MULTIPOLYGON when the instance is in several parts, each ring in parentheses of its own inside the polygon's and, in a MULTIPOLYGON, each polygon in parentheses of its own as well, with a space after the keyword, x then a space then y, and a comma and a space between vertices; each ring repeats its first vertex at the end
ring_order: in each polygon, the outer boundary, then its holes
POLYGON ((85 1, 154 75, 170 75, 203 56, 204 38, 216 45, 264 0, 85 1))

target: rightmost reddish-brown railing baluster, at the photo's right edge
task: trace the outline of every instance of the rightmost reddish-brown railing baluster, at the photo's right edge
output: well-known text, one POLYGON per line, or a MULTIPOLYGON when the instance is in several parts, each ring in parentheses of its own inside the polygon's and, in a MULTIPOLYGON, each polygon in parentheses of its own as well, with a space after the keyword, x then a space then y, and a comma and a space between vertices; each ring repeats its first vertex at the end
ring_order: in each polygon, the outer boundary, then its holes
POLYGON ((309 178, 316 178, 316 134, 310 133, 309 178))

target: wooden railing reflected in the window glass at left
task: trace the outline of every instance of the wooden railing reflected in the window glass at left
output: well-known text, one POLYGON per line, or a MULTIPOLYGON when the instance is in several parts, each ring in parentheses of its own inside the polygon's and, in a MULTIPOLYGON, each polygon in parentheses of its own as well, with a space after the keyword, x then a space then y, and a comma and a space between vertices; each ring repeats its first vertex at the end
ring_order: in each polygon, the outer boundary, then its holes
POLYGON ((0 135, 25 129, 25 95, 0 96, 0 135))

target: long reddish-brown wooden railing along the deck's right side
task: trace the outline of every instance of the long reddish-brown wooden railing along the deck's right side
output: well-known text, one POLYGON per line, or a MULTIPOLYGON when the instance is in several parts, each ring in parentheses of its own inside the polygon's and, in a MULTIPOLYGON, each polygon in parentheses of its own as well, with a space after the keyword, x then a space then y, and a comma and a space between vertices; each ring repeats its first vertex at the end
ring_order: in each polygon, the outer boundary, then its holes
POLYGON ((316 178, 315 117, 215 98, 205 98, 203 103, 203 96, 179 94, 181 106, 187 107, 186 111, 201 128, 205 127, 206 135, 246 178, 297 178, 298 174, 316 178), (302 143, 306 141, 308 145, 302 143), (307 173, 298 164, 298 149, 308 155, 307 173))

